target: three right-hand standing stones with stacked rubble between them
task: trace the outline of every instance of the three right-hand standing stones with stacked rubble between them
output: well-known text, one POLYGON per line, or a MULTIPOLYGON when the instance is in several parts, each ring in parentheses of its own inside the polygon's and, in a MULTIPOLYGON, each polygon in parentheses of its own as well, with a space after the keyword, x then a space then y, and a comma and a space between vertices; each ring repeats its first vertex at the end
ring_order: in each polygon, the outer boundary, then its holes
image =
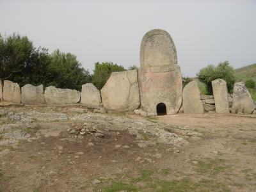
POLYGON ((233 98, 228 94, 227 83, 223 79, 212 81, 212 92, 214 97, 208 98, 211 95, 204 95, 205 98, 202 98, 197 81, 188 83, 182 95, 184 113, 202 114, 204 111, 213 109, 219 114, 228 114, 230 111, 232 113, 256 113, 256 103, 253 102, 243 82, 234 84, 233 98))

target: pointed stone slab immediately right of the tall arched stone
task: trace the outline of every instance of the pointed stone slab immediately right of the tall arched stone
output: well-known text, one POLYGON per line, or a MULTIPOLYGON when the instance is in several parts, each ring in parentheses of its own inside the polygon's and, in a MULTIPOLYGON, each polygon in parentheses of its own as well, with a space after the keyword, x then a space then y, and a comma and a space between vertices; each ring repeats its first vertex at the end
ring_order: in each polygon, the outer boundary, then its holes
POLYGON ((204 106, 200 99, 200 91, 197 81, 191 81, 184 87, 183 90, 183 108, 184 113, 204 113, 204 106))

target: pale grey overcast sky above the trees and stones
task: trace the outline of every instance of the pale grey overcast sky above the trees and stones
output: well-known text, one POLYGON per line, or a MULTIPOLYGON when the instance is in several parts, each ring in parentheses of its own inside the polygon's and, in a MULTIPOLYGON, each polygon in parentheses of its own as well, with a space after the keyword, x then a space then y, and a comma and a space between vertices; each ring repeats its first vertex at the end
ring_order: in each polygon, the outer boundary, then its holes
POLYGON ((141 39, 164 29, 175 42, 184 76, 228 60, 256 63, 256 1, 0 0, 0 33, 27 35, 36 46, 97 61, 140 66, 141 39))

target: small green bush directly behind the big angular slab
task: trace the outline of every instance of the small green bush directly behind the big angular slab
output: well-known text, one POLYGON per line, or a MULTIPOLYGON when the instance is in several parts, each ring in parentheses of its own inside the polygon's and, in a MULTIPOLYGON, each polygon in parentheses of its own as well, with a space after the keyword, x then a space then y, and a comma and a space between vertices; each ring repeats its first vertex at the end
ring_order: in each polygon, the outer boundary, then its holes
POLYGON ((99 89, 108 81, 112 72, 124 71, 122 65, 113 64, 112 62, 95 63, 92 75, 92 83, 99 89))

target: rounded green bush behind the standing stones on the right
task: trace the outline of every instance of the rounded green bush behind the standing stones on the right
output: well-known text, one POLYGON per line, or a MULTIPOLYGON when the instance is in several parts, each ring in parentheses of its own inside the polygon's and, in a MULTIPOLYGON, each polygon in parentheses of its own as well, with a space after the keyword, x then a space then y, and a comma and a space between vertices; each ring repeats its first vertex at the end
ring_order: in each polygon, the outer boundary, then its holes
POLYGON ((217 67, 208 65, 200 69, 196 75, 200 81, 206 84, 209 93, 212 93, 211 82, 215 79, 224 79, 227 82, 228 92, 233 90, 235 83, 234 68, 229 65, 228 61, 219 63, 217 67))

